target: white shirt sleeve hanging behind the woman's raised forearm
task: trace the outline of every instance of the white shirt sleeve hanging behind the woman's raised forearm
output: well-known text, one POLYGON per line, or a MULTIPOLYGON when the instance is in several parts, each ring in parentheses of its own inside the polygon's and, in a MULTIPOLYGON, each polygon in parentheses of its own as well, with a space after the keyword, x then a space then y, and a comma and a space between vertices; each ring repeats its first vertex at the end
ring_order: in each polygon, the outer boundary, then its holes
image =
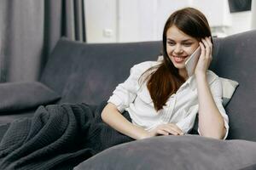
MULTIPOLYGON (((215 101, 215 104, 218 108, 218 111, 220 112, 221 116, 223 116, 224 119, 224 127, 226 129, 226 133, 224 135, 224 139, 227 138, 229 133, 229 117, 226 114, 226 111, 224 110, 224 106, 222 104, 222 83, 220 81, 220 78, 217 77, 210 85, 212 97, 215 101)), ((198 128, 198 133, 200 134, 200 129, 198 128)))

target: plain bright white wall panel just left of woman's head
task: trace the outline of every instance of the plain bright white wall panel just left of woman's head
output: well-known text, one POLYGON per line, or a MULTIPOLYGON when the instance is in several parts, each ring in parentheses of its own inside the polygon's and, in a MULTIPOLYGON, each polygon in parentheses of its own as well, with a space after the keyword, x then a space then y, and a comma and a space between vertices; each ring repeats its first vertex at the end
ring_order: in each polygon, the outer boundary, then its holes
POLYGON ((118 42, 148 41, 155 38, 155 0, 119 0, 118 42))

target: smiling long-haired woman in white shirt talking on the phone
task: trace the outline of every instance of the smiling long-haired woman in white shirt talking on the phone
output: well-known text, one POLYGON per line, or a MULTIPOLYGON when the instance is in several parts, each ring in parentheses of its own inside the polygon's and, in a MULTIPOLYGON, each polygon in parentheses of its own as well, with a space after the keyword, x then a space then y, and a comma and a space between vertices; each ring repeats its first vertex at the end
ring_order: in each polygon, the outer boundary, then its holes
POLYGON ((195 8, 177 10, 163 31, 163 59, 131 68, 131 75, 113 91, 102 120, 132 139, 189 133, 198 113, 202 136, 225 139, 229 119, 222 105, 222 86, 207 70, 212 61, 212 36, 207 19, 195 8), (196 48, 201 55, 195 74, 185 62, 196 48), (128 111, 132 122, 122 116, 128 111))

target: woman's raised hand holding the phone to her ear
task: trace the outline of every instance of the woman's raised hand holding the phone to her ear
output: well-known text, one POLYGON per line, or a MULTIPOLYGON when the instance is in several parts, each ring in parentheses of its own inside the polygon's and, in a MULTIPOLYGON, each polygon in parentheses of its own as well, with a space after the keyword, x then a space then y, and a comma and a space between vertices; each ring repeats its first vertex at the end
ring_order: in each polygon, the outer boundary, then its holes
POLYGON ((199 45, 201 47, 201 55, 195 67, 195 76, 206 75, 209 65, 212 62, 212 42, 210 37, 201 39, 199 45))

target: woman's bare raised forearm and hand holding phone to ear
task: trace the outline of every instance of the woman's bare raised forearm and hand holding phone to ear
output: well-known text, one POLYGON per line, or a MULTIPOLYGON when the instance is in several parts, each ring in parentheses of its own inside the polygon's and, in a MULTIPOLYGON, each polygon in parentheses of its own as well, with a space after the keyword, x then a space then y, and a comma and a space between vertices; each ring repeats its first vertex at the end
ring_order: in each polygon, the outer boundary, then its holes
POLYGON ((201 56, 195 68, 199 100, 199 129, 202 136, 223 139, 225 134, 224 118, 212 97, 207 82, 207 69, 212 61, 212 42, 210 38, 200 42, 201 56))

